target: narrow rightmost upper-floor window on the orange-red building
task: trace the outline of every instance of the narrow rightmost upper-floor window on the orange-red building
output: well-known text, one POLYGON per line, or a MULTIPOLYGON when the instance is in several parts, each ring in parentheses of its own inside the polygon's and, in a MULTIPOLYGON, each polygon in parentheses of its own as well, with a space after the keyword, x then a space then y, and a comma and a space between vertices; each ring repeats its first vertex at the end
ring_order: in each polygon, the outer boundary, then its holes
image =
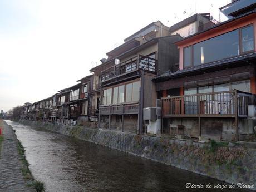
POLYGON ((253 26, 242 28, 242 51, 254 50, 254 30, 253 26))

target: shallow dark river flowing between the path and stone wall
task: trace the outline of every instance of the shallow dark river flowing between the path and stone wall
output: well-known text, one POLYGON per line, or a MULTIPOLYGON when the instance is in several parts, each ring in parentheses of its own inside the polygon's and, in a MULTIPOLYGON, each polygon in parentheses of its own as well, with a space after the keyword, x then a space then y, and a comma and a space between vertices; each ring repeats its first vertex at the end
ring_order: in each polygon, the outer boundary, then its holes
POLYGON ((29 169, 45 183, 46 191, 245 191, 205 189, 209 183, 224 183, 39 127, 6 122, 16 130, 29 169), (186 183, 204 188, 186 188, 186 183))

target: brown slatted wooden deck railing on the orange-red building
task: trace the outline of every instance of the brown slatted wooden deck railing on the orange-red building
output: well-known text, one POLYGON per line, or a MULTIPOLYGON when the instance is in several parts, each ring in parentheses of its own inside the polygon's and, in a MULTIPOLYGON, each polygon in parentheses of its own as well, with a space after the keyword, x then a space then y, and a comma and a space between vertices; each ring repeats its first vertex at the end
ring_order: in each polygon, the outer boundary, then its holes
POLYGON ((165 97, 161 103, 163 117, 247 117, 255 96, 234 90, 165 97))

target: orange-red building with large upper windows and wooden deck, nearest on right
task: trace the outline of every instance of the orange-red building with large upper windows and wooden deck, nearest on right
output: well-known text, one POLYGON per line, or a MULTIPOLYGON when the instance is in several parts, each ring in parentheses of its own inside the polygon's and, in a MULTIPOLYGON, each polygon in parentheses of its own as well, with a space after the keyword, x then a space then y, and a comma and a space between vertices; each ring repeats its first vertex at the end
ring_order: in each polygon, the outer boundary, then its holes
POLYGON ((250 138, 255 126, 248 114, 256 93, 255 26, 254 9, 237 10, 228 21, 176 42, 179 70, 154 80, 163 133, 228 141, 250 138))

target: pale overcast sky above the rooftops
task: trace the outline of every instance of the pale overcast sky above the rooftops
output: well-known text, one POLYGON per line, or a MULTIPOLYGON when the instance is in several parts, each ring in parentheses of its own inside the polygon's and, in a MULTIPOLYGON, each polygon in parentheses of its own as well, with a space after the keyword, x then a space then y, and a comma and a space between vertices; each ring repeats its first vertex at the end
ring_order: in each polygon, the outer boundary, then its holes
POLYGON ((74 85, 153 21, 170 27, 207 12, 219 20, 218 8, 230 1, 0 0, 0 110, 74 85))

